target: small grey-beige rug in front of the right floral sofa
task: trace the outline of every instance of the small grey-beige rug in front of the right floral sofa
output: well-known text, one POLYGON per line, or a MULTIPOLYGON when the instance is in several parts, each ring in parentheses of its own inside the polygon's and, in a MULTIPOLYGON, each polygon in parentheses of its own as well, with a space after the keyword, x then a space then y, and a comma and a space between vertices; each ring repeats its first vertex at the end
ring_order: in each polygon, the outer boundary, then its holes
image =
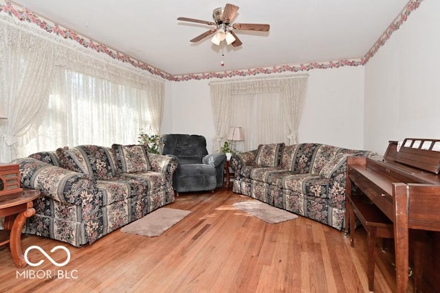
POLYGON ((269 224, 276 224, 298 218, 298 215, 295 215, 294 213, 278 209, 277 207, 272 207, 270 204, 265 204, 264 202, 236 202, 232 204, 232 207, 240 209, 241 211, 253 215, 269 224))

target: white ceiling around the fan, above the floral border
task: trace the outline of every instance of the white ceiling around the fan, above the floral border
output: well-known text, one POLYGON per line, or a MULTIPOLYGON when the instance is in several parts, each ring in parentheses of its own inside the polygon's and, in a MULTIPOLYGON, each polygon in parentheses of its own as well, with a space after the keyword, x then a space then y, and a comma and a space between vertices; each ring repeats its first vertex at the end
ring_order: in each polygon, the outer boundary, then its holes
POLYGON ((190 39, 225 1, 14 0, 58 23, 172 75, 362 58, 408 0, 231 0, 234 23, 269 23, 270 32, 235 31, 241 47, 190 39), (221 67, 221 54, 225 66, 221 67))

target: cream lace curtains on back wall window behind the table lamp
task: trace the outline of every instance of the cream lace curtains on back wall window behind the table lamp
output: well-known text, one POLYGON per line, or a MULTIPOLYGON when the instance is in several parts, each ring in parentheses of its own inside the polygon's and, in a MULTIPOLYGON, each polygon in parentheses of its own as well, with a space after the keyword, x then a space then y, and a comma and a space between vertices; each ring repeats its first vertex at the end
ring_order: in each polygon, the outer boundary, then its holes
POLYGON ((214 113, 213 151, 218 152, 230 126, 240 126, 245 141, 239 151, 254 150, 260 143, 293 144, 303 112, 308 75, 211 82, 214 113))

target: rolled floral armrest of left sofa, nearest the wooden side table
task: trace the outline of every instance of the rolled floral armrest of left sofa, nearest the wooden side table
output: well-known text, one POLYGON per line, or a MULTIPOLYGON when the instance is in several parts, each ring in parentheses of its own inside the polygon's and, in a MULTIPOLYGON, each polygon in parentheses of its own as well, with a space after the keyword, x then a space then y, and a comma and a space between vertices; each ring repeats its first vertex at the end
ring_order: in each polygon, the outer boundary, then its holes
POLYGON ((21 187, 41 191, 43 196, 58 202, 93 207, 102 205, 102 194, 96 180, 89 176, 44 163, 33 158, 14 160, 19 164, 21 187))

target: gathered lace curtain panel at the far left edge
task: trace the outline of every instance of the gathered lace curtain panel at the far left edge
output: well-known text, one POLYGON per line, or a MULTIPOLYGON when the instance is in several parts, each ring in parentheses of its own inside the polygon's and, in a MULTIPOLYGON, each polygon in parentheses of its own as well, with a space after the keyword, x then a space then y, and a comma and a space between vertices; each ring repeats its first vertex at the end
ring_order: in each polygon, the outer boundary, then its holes
POLYGON ((0 34, 0 103, 8 117, 0 121, 1 162, 9 162, 45 115, 54 47, 10 16, 0 16, 0 34))

